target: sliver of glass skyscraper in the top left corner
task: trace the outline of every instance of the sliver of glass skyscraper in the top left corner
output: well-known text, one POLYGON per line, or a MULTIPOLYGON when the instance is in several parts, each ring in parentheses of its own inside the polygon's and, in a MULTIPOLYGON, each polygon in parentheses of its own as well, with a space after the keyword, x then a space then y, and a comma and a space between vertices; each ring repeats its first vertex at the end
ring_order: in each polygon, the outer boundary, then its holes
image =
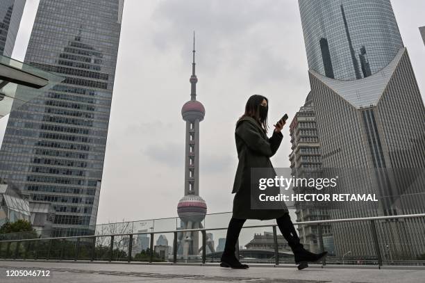
POLYGON ((0 1, 0 55, 12 56, 26 0, 0 1))

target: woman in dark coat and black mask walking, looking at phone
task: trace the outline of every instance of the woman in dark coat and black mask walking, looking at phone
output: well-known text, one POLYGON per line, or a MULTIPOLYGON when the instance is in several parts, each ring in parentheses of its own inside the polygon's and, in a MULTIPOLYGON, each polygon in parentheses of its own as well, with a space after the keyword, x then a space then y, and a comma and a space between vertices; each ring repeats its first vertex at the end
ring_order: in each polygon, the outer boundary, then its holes
POLYGON ((308 262, 323 259, 327 254, 327 252, 314 254, 303 248, 284 202, 281 202, 282 209, 251 209, 251 168, 272 169, 273 165, 269 158, 276 153, 283 138, 281 130, 285 121, 282 120, 274 125, 272 137, 267 138, 268 107, 266 97, 252 95, 245 106, 244 115, 236 123, 235 142, 239 164, 233 184, 232 193, 235 193, 233 214, 228 223, 226 244, 220 264, 222 267, 249 268, 235 257, 235 245, 242 225, 247 219, 276 219, 283 237, 294 252, 295 263, 299 265, 299 269, 308 267, 308 262))

